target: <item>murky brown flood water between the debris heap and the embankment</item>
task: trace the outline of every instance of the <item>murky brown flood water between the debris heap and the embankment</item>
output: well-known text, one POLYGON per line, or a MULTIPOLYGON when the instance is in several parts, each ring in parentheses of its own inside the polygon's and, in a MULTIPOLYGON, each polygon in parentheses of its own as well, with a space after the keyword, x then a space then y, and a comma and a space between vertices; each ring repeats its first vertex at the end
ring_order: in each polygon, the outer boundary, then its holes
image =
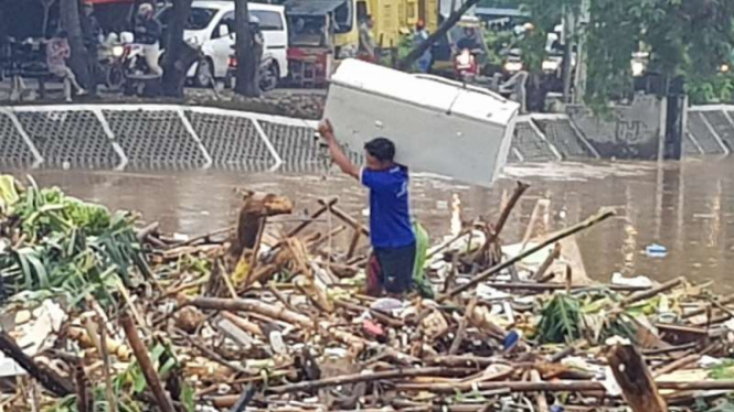
MULTIPOLYGON (((364 218, 365 192, 336 172, 329 175, 206 172, 33 171, 40 185, 58 185, 68 194, 110 208, 142 213, 166 231, 204 234, 234 223, 236 188, 267 191, 296 200, 297 214, 315 208, 317 198, 340 196, 339 205, 364 218)), ((503 232, 506 243, 521 241, 540 199, 543 217, 555 230, 614 207, 618 215, 577 237, 588 275, 608 281, 611 273, 643 274, 663 281, 679 275, 714 281, 720 293, 733 292, 734 162, 687 160, 671 163, 557 163, 510 166, 491 189, 425 175, 413 176, 414 213, 433 238, 449 232, 454 196, 461 217, 497 215, 513 181, 532 185, 503 232), (650 243, 668 248, 664 258, 646 256, 650 243)), ((321 224, 326 225, 326 224, 321 224)), ((337 225, 333 221, 333 225, 337 225)))

